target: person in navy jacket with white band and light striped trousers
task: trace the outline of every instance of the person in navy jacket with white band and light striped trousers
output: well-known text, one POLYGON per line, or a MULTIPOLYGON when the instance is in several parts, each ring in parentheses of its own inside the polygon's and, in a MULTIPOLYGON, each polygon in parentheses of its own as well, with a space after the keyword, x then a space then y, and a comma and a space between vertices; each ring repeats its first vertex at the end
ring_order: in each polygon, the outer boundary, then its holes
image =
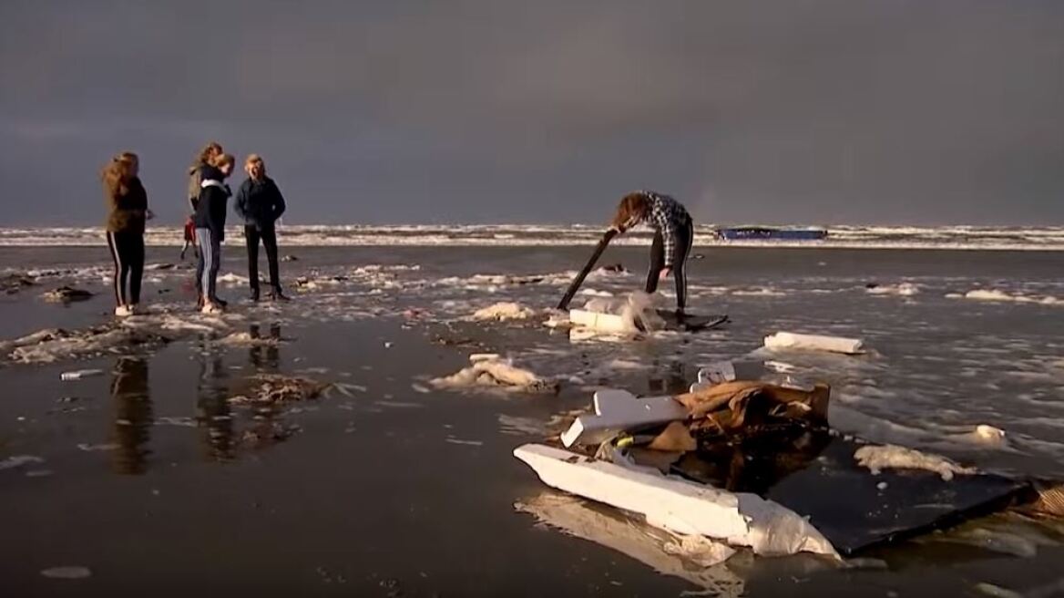
POLYGON ((204 314, 220 313, 226 302, 218 299, 218 268, 221 266, 221 242, 226 238, 226 204, 232 193, 225 180, 233 172, 233 156, 228 153, 215 160, 215 166, 204 166, 199 201, 193 222, 199 240, 200 259, 196 277, 200 281, 200 305, 204 314))

